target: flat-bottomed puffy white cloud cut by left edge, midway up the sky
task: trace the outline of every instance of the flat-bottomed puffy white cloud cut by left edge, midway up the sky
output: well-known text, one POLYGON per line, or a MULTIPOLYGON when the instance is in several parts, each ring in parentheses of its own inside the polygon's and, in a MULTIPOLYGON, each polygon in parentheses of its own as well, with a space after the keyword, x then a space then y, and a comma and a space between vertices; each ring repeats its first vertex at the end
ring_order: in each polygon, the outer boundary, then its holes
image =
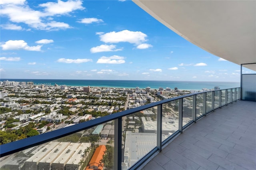
POLYGON ((19 50, 24 49, 27 51, 41 51, 42 45, 28 46, 24 40, 9 40, 1 45, 3 50, 19 50))

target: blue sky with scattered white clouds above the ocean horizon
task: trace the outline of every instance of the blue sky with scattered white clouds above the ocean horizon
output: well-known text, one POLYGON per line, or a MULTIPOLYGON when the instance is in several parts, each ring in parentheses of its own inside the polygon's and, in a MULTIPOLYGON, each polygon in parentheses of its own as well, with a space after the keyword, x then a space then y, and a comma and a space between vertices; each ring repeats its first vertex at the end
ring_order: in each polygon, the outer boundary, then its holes
POLYGON ((0 77, 240 81, 132 1, 1 0, 0 77))

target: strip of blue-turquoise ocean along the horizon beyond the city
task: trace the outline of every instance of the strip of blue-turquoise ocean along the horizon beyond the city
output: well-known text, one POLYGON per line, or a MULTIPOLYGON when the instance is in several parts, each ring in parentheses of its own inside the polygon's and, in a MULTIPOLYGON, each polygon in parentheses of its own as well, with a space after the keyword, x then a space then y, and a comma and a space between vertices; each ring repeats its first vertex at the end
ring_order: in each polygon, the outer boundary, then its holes
POLYGON ((66 79, 0 79, 0 81, 25 81, 33 82, 34 84, 47 83, 48 85, 67 85, 67 86, 90 86, 90 87, 117 87, 117 88, 132 88, 140 87, 145 89, 158 89, 159 87, 169 87, 174 89, 177 87, 181 90, 202 90, 213 89, 219 86, 220 89, 229 89, 240 87, 240 82, 215 82, 215 81, 142 81, 142 80, 66 80, 66 79))

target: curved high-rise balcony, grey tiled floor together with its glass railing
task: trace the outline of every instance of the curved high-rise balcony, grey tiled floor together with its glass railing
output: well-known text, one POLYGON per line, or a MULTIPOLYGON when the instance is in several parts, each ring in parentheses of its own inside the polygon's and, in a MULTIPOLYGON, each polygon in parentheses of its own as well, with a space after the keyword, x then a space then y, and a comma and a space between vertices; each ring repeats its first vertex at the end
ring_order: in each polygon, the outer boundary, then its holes
POLYGON ((239 100, 240 88, 194 93, 3 144, 1 167, 251 169, 256 157, 253 131, 256 107, 254 102, 239 100), (99 127, 103 129, 101 134, 97 134, 99 127), (88 133, 106 137, 82 141, 88 133), (75 138, 80 139, 73 141, 75 138), (96 151, 102 145, 108 145, 102 152, 109 154, 107 158, 96 151), (100 161, 90 162, 98 155, 100 161))

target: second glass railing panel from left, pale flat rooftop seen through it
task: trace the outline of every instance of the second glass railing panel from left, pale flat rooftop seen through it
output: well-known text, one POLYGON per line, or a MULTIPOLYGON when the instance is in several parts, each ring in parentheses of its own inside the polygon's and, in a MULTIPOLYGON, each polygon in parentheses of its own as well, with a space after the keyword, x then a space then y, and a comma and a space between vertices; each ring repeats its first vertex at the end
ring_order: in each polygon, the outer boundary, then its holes
POLYGON ((157 107, 132 115, 122 121, 124 155, 122 168, 127 169, 156 147, 157 107))

